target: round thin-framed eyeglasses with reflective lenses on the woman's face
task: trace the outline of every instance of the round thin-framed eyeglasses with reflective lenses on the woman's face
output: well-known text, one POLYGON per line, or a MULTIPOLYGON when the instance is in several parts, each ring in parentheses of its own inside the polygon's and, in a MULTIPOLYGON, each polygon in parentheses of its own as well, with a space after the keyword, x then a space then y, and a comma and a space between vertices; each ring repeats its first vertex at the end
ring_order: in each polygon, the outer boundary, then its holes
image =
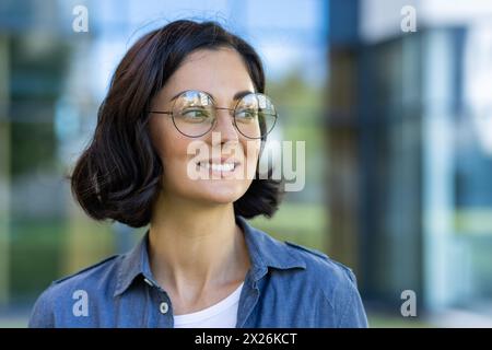
POLYGON ((270 98, 260 93, 248 93, 241 97, 234 109, 216 107, 212 96, 197 90, 179 94, 172 110, 151 110, 150 113, 171 115, 176 129, 184 136, 198 138, 216 125, 216 112, 233 112, 234 126, 248 139, 265 138, 276 125, 277 110, 270 98))

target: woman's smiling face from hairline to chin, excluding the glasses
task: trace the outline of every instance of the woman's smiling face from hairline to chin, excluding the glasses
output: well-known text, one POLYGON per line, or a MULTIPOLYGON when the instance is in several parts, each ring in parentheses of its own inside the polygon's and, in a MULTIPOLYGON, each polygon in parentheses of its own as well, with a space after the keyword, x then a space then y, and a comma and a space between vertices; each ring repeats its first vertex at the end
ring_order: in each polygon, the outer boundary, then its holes
MULTIPOLYGON (((200 49, 190 54, 169 78, 152 101, 151 110, 173 110, 172 98, 189 90, 206 92, 213 97, 215 106, 232 109, 237 102, 234 95, 255 92, 237 51, 200 49)), ((251 170, 255 174, 260 140, 247 139, 239 133, 234 127, 232 112, 218 109, 214 128, 198 138, 180 133, 171 115, 152 114, 150 129, 164 166, 163 196, 230 203, 239 199, 251 184, 251 176, 246 174, 251 174, 251 170), (201 152, 196 152, 197 144, 201 152), (232 163, 234 168, 231 171, 232 163)))

